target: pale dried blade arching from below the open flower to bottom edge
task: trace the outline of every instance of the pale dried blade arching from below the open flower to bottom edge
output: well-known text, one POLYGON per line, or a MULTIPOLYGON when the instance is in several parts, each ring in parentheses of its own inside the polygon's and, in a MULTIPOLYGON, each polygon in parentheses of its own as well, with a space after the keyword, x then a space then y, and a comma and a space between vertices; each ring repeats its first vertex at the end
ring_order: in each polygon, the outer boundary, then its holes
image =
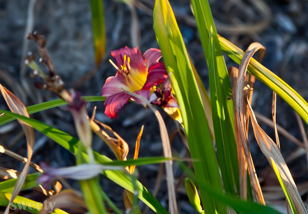
MULTIPOLYGON (((124 90, 125 91, 125 90, 124 90)), ((152 106, 150 101, 145 99, 143 96, 137 95, 135 93, 132 93, 130 91, 125 91, 127 94, 132 95, 133 97, 136 97, 140 99, 142 102, 144 102, 148 107, 151 108, 151 110, 154 112, 155 116, 157 117, 159 128, 160 128, 160 136, 163 143, 163 150, 164 155, 166 158, 172 159, 172 153, 171 153, 171 146, 170 141, 168 137, 168 131, 166 128, 166 125, 164 123, 164 119, 160 115, 159 111, 152 106)), ((175 194, 175 187, 174 187, 174 178, 173 178, 173 169, 172 169, 172 160, 166 161, 166 176, 167 176, 167 187, 168 187, 168 197, 169 197, 169 209, 171 214, 177 214, 177 206, 176 206, 176 194, 175 194)))

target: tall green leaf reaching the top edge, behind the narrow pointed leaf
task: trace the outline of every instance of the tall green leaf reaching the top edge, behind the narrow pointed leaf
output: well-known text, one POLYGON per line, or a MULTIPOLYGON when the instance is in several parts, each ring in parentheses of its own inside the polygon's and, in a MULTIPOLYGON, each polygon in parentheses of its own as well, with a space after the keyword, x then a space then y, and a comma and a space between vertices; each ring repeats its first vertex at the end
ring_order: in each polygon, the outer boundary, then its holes
MULTIPOLYGON (((213 16, 211 13, 211 9, 209 6, 209 2, 207 0, 192 0, 193 11, 196 17, 198 31, 200 34, 203 51, 205 54, 206 61, 208 63, 208 67, 210 67, 210 59, 212 52, 215 53, 215 61, 217 62, 217 89, 219 88, 219 103, 212 103, 212 110, 215 105, 222 105, 221 113, 222 118, 220 119, 220 123, 222 127, 219 125, 216 126, 217 130, 214 128, 215 133, 215 142, 217 145, 218 152, 218 160, 219 165, 221 167, 221 174, 224 182, 224 187, 227 186, 229 188, 225 188, 226 192, 229 192, 235 195, 235 189, 239 191, 239 169, 238 169, 238 159, 237 159, 237 146, 235 139, 235 130, 234 130, 234 111, 233 111, 233 102, 231 99, 228 99, 232 96, 232 88, 231 83, 227 71, 227 67, 225 64, 225 59, 222 55, 221 47, 217 38, 217 31, 215 28, 215 23, 213 20, 213 16), (213 45, 215 46, 215 51, 210 51, 210 29, 213 29, 213 45), (224 131, 224 141, 220 142, 216 139, 217 135, 221 135, 221 131, 224 131), (225 137, 225 135, 227 137, 225 137), (219 155, 220 154, 220 155, 219 155), (222 155, 225 154, 225 157, 222 155), (226 177, 229 176, 229 181, 226 180, 226 177)), ((213 90, 210 88, 210 90, 213 90)), ((211 91, 211 94, 213 92, 211 91)), ((213 121, 214 115, 213 115, 213 121)))

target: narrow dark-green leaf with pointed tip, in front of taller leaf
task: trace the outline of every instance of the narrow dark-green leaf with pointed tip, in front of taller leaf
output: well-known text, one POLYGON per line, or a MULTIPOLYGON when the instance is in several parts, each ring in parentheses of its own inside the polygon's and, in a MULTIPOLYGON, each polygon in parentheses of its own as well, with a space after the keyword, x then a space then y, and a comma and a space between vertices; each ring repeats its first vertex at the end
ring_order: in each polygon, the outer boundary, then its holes
POLYGON ((227 133, 227 124, 225 123, 225 110, 223 107, 224 101, 221 93, 220 79, 217 70, 218 68, 212 28, 210 30, 208 62, 213 124, 221 176, 224 183, 225 192, 236 196, 234 189, 235 180, 232 170, 232 159, 229 153, 228 136, 225 134, 227 133))

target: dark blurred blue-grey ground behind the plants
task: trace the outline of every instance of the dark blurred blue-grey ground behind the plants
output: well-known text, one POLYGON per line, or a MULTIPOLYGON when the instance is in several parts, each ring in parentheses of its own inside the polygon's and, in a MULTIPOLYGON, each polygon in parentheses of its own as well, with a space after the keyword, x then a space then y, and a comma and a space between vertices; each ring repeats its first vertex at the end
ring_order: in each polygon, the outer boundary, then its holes
MULTIPOLYGON (((209 0, 217 31, 235 45, 245 50, 250 43, 260 42, 267 49, 263 65, 274 72, 286 83, 294 88, 304 99, 308 99, 308 1, 305 0, 209 0)), ((108 62, 109 52, 124 46, 133 47, 131 36, 131 10, 122 3, 104 0, 106 53, 100 67, 95 70, 94 46, 91 21, 91 6, 89 0, 0 0, 0 81, 10 89, 26 105, 33 105, 53 99, 56 95, 50 91, 39 91, 33 87, 34 79, 29 77, 30 70, 24 66, 24 59, 28 51, 36 53, 36 44, 26 40, 27 30, 37 30, 44 34, 47 48, 54 63, 55 70, 62 76, 67 88, 74 88, 82 95, 100 95, 105 80, 115 75, 114 67, 108 62)), ((170 0, 176 15, 185 45, 199 72, 203 83, 208 88, 208 69, 197 33, 196 23, 188 0, 170 0)), ((142 53, 148 48, 159 48, 153 30, 152 10, 153 0, 139 0, 136 6, 137 20, 134 24, 140 26, 139 48, 142 53)), ((138 36, 138 31, 133 33, 138 36)), ((133 36, 133 37, 134 37, 133 36)), ((136 39, 135 39, 136 40, 136 39)), ((225 56, 227 67, 237 66, 225 56)), ((140 142, 139 156, 158 156, 162 154, 159 127, 152 111, 136 103, 128 103, 121 109, 118 119, 109 119, 104 115, 101 102, 88 103, 91 114, 97 106, 96 119, 108 124, 116 131, 130 147, 128 158, 133 157, 136 137, 142 125, 144 132, 140 142)), ((271 118, 272 91, 263 83, 256 80, 252 106, 254 111, 271 118)), ((8 109, 4 99, 0 98, 0 108, 8 109)), ((175 135, 172 148, 180 156, 189 153, 179 135, 176 135, 177 124, 161 111, 167 129, 175 135)), ((73 136, 76 132, 71 114, 61 108, 55 108, 36 113, 33 118, 59 128, 73 136)), ((205 121, 206 122, 206 121, 205 121)), ((302 141, 294 111, 281 99, 277 98, 277 123, 290 134, 302 141)), ((260 122, 261 127, 272 138, 274 130, 260 122)), ((289 160, 288 166, 298 189, 306 198, 307 161, 301 155, 298 145, 288 138, 280 136, 282 155, 289 160)), ((36 132, 33 162, 47 162, 54 167, 73 165, 75 158, 68 151, 49 140, 46 136, 36 132)), ((0 127, 0 143, 19 155, 26 156, 26 141, 19 124, 14 121, 0 127)), ((257 170, 259 180, 262 180, 262 190, 267 186, 278 185, 273 170, 269 170, 268 162, 261 153, 253 136, 249 131, 250 150, 257 170)), ((111 150, 97 136, 94 137, 93 147, 100 153, 115 159, 111 150)), ((21 171, 23 164, 4 154, 1 155, 0 166, 21 171)), ((168 195, 162 165, 148 165, 138 167, 139 180, 150 192, 158 191, 157 199, 166 208, 168 195), (158 179, 156 179, 158 176, 158 179), (160 182, 161 186, 158 189, 160 182)), ((30 169, 30 172, 32 172, 30 169)), ((34 172, 34 171, 33 171, 34 172)), ((175 179, 178 183, 177 200, 181 213, 195 213, 189 204, 185 193, 182 172, 175 166, 175 179)), ((72 186, 78 188, 78 185, 72 186)), ((115 204, 124 209, 123 188, 112 181, 102 178, 105 192, 115 204)), ((22 192, 26 197, 40 200, 40 193, 22 192), (30 194, 30 195, 29 195, 30 194)), ((264 193, 265 200, 273 204, 284 203, 284 195, 273 196, 269 191, 264 193), (281 197, 282 196, 282 197, 281 197), (278 201, 278 202, 277 202, 278 201)), ((140 210, 144 211, 144 204, 140 203, 140 210)), ((150 213, 150 211, 149 211, 150 213)))

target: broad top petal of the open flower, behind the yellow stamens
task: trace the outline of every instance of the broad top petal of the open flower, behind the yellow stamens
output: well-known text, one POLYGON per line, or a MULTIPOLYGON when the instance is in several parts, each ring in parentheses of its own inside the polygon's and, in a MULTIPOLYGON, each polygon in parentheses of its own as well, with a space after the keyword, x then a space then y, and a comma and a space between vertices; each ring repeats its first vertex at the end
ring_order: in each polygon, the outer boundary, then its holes
POLYGON ((125 46, 118 50, 111 51, 110 54, 115 58, 115 63, 119 69, 121 69, 121 66, 124 65, 124 55, 126 55, 126 60, 128 57, 130 58, 129 65, 131 70, 136 73, 135 75, 147 73, 147 64, 145 63, 138 47, 128 48, 125 46))

